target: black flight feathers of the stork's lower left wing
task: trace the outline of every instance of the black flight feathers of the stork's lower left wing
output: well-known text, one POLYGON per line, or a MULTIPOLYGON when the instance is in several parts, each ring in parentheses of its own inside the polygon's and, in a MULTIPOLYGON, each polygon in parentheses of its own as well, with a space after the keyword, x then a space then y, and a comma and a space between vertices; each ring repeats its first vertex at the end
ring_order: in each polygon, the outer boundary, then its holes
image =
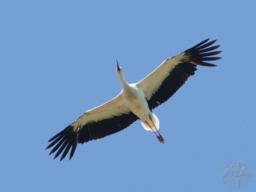
POLYGON ((76 150, 78 143, 83 144, 91 140, 100 139, 108 135, 117 133, 127 128, 129 125, 134 123, 138 117, 134 113, 130 112, 128 114, 122 114, 120 116, 114 116, 110 119, 103 119, 98 122, 90 122, 84 125, 79 131, 73 131, 71 125, 67 126, 63 131, 56 134, 48 142, 50 143, 46 149, 51 148, 55 145, 49 155, 53 154, 55 151, 55 157, 58 157, 61 152, 64 150, 61 160, 66 157, 68 151, 70 151, 70 159, 73 157, 73 154, 76 150))

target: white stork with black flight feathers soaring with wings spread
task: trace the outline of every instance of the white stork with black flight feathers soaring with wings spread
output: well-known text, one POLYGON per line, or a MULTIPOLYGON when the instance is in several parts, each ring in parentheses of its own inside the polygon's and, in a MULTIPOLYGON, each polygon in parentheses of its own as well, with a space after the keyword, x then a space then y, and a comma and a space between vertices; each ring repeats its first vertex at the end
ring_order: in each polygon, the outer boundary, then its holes
MULTIPOLYGON (((135 84, 128 84, 122 73, 122 68, 117 62, 116 73, 123 89, 115 98, 99 107, 86 111, 75 122, 67 126, 63 131, 56 134, 48 142, 46 149, 52 149, 58 157, 64 150, 61 160, 70 152, 70 159, 76 150, 78 143, 83 144, 91 140, 100 139, 127 128, 137 119, 147 131, 155 131, 160 143, 164 139, 159 133, 159 120, 152 113, 152 109, 166 102, 189 78, 195 74, 197 65, 214 67, 216 65, 204 61, 214 61, 220 57, 208 57, 217 55, 221 51, 209 52, 220 47, 220 45, 209 47, 215 41, 205 44, 202 41, 196 46, 166 59, 148 76, 135 84)), ((49 155, 50 155, 49 154, 49 155)))

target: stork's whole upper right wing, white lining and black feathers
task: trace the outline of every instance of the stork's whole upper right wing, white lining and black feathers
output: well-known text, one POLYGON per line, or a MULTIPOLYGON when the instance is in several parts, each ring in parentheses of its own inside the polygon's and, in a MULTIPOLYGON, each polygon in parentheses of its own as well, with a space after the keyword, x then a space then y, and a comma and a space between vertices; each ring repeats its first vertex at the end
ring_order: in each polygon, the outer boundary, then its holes
POLYGON ((217 40, 205 44, 207 41, 209 39, 175 57, 166 59, 156 70, 137 83, 137 87, 145 92, 150 109, 166 102, 185 83, 189 76, 195 74, 196 65, 216 66, 204 61, 221 59, 221 57, 208 57, 219 54, 221 51, 209 51, 217 49, 220 45, 209 47, 217 40))

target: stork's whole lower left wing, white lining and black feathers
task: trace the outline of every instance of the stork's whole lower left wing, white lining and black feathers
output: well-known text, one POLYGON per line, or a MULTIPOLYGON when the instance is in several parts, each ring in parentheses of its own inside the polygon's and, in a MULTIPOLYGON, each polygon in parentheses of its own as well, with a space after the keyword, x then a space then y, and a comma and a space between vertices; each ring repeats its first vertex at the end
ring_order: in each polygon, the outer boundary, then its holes
POLYGON ((84 142, 100 139, 127 128, 138 117, 124 103, 124 99, 119 94, 109 102, 86 111, 75 122, 52 137, 48 141, 52 143, 46 149, 55 145, 50 152, 52 154, 58 150, 54 159, 65 149, 61 156, 61 160, 63 160, 72 147, 70 151, 71 159, 78 143, 83 144, 84 142))

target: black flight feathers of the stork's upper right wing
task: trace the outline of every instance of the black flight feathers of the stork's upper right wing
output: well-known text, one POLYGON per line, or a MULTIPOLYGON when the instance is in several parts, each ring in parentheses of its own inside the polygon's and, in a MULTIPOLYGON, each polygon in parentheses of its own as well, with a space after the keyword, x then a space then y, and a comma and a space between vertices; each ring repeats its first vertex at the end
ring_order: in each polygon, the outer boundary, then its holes
POLYGON ((188 56, 188 58, 184 59, 183 62, 177 64, 175 68, 170 71, 169 76, 167 76, 167 78, 162 82, 159 89, 148 100, 148 107, 150 109, 154 109, 158 105, 161 105, 163 102, 166 102, 185 83, 185 81, 190 76, 195 74, 195 71, 197 70, 196 65, 208 67, 216 66, 214 64, 210 64, 204 61, 215 61, 221 59, 221 57, 208 57, 221 53, 222 51, 209 52, 217 49, 218 47, 220 47, 220 45, 209 47, 217 40, 205 44, 207 41, 209 41, 209 39, 206 39, 185 51, 185 54, 188 56))

